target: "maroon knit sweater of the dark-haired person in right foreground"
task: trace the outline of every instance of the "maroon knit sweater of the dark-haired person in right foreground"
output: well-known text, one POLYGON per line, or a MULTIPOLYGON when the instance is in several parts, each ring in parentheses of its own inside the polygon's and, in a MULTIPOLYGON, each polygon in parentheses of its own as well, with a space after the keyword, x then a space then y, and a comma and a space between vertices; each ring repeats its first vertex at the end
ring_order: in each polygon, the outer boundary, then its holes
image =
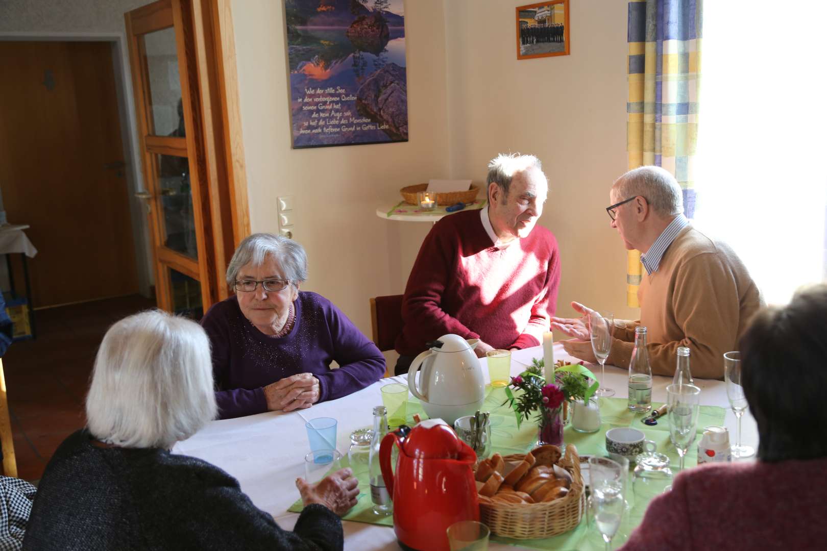
POLYGON ((622 549, 825 549, 825 519, 827 458, 708 463, 677 476, 622 549))

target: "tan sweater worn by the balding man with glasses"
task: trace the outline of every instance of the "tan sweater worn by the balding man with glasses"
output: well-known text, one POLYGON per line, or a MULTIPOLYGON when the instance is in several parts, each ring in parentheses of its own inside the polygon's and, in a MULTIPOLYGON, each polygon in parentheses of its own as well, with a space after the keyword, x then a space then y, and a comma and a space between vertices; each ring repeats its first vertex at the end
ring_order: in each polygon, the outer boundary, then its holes
POLYGON ((638 290, 640 320, 615 321, 606 363, 629 367, 634 329, 647 328, 652 373, 675 373, 676 349, 691 349, 692 377, 724 378, 724 352, 738 340, 761 297, 747 268, 728 245, 686 226, 663 254, 657 272, 638 290))

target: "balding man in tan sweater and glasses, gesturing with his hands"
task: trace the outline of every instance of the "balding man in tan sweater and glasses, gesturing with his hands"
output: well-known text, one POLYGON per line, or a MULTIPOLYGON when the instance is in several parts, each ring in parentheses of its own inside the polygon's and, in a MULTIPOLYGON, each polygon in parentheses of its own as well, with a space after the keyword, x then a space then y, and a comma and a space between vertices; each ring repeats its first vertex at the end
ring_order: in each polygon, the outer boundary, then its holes
MULTIPOLYGON (((761 297, 747 268, 728 245, 693 228, 683 216, 681 187, 667 170, 634 169, 612 186, 611 226, 626 249, 642 254, 646 274, 638 290, 640 320, 614 322, 614 340, 606 363, 629 366, 634 329, 648 329, 649 359, 656 375, 675 373, 676 349, 691 349, 697 378, 723 378, 724 352, 737 349, 761 297)), ((595 362, 589 341, 590 308, 571 306, 579 319, 552 317, 552 328, 574 337, 563 341, 568 354, 595 362)))

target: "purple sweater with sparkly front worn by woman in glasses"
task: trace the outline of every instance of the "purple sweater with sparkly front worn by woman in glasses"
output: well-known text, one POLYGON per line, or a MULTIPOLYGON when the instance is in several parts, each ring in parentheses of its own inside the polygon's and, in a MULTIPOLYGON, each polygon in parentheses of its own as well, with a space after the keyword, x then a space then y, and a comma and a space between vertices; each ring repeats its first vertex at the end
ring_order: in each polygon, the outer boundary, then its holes
POLYGON ((220 419, 267 411, 264 388, 296 373, 313 373, 319 401, 335 400, 378 381, 385 357, 327 298, 299 292, 296 321, 283 337, 257 330, 236 297, 214 304, 203 316, 213 349, 213 377, 220 419), (336 361, 339 368, 331 369, 336 361))

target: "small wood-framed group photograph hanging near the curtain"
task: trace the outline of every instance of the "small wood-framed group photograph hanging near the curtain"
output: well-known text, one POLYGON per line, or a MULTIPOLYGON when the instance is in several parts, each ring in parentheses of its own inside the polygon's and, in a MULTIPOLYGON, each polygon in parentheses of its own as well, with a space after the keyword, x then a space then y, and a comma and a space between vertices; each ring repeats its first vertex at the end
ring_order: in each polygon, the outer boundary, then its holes
POLYGON ((517 59, 569 55, 568 2, 517 7, 517 59))

